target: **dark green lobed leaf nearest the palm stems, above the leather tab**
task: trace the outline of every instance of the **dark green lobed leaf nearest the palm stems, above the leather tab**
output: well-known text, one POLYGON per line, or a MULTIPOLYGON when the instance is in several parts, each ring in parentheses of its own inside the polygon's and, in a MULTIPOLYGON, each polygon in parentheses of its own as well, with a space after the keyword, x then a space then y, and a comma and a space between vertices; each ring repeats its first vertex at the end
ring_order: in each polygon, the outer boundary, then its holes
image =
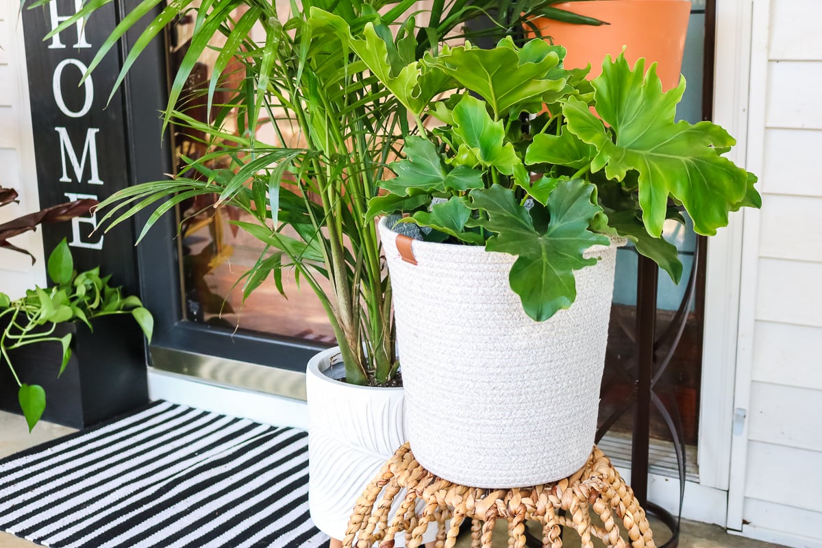
POLYGON ((482 188, 482 173, 467 166, 446 168, 436 146, 420 136, 405 140, 405 159, 391 163, 397 176, 380 183, 382 188, 399 196, 428 195, 432 192, 468 191, 482 188))

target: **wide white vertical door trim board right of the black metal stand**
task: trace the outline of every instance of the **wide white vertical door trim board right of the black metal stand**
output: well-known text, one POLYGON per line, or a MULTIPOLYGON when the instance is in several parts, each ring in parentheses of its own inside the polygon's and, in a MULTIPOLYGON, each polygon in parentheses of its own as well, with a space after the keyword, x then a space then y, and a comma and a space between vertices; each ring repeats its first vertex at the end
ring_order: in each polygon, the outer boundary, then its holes
MULTIPOLYGON (((728 154, 746 163, 750 2, 718 0, 716 6, 713 120, 737 137, 728 154)), ((705 320, 697 461, 703 486, 727 490, 740 307, 742 214, 709 239, 705 272, 705 320)), ((724 524, 724 523, 723 523, 724 524)))

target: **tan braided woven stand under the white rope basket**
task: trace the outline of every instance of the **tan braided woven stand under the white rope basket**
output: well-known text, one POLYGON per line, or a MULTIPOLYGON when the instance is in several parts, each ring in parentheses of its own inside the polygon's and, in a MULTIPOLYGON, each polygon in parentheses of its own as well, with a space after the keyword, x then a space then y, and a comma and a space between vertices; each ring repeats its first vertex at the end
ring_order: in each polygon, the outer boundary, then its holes
POLYGON ((612 548, 655 548, 644 510, 596 446, 584 467, 566 479, 489 490, 457 485, 427 472, 414 459, 409 444, 397 449, 357 501, 343 546, 370 548, 379 543, 380 548, 390 548, 395 535, 404 532, 406 546, 417 548, 428 524, 436 522, 436 547, 451 548, 466 519, 472 520, 472 548, 491 548, 498 519, 508 522, 508 546, 513 548, 525 548, 526 520, 543 525, 546 548, 562 548, 561 526, 574 530, 583 548, 593 548, 594 536, 612 548), (402 488, 408 495, 390 516, 391 503, 402 488), (418 500, 424 504, 420 513, 418 500), (591 523, 591 509, 601 525, 591 523), (564 515, 560 510, 565 510, 564 515))

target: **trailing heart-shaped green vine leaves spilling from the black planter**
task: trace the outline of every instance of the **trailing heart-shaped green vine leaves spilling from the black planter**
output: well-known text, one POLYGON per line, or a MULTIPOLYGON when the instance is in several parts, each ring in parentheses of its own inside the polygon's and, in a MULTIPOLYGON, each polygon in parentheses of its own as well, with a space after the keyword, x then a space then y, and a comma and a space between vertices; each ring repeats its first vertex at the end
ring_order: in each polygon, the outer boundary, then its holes
POLYGON ((25 297, 12 300, 0 293, 0 362, 6 362, 20 387, 18 400, 29 431, 43 415, 46 394, 39 385, 21 382, 9 352, 30 344, 58 342, 61 360, 54 373, 60 376, 72 357, 72 334, 57 337, 54 334, 57 324, 81 321, 91 329, 90 320, 96 317, 131 314, 149 340, 154 327, 154 320, 140 299, 123 297, 121 288, 109 286, 108 277, 100 278, 99 268, 78 274, 65 239, 48 257, 48 277, 54 283, 52 287, 30 289, 25 297))

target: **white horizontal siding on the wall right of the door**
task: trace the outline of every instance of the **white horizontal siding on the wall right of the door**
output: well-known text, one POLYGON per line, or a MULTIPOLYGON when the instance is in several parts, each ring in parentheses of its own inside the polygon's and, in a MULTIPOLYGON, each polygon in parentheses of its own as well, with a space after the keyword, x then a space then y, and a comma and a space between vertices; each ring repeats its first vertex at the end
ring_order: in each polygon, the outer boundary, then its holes
POLYGON ((822 546, 822 2, 754 0, 754 13, 747 159, 760 169, 763 209, 743 243, 737 407, 747 437, 732 466, 745 466, 744 521, 728 525, 822 546))

